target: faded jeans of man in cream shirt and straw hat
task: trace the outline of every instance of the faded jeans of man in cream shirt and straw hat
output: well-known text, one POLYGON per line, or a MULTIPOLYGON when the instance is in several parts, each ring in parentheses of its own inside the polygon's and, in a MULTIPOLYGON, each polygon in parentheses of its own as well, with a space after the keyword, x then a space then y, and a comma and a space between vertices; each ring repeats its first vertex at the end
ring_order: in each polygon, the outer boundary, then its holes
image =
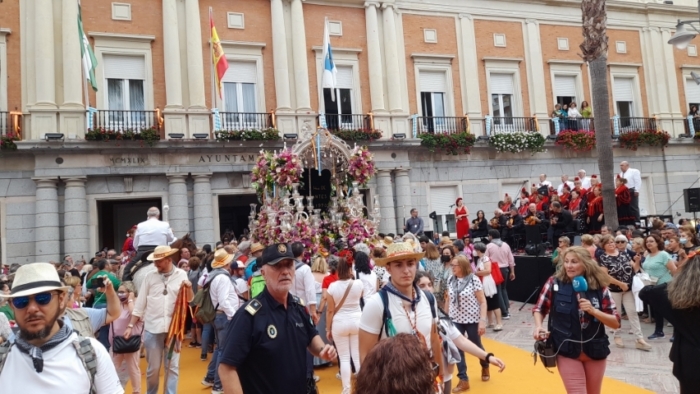
POLYGON ((180 375, 180 353, 173 352, 172 360, 168 360, 168 349, 165 347, 167 333, 153 334, 144 331, 143 343, 146 347, 146 393, 158 394, 160 384, 159 373, 161 364, 165 369, 165 391, 163 394, 177 393, 177 380, 180 375))

